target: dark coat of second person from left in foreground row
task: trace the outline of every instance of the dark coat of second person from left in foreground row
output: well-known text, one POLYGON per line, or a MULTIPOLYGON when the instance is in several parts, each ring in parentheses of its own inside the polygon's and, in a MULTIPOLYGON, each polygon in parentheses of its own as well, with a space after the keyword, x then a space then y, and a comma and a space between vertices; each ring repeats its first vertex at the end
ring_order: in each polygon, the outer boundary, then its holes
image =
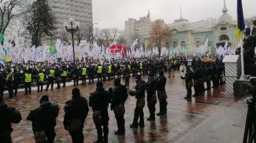
POLYGON ((30 111, 27 120, 32 121, 34 132, 54 131, 59 110, 58 105, 51 104, 51 102, 42 102, 40 107, 30 111))

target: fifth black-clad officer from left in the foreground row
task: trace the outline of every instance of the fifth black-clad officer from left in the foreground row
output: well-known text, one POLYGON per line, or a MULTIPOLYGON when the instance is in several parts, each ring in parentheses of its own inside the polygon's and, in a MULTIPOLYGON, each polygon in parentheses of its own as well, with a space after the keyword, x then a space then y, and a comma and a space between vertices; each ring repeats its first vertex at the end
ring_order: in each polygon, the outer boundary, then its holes
POLYGON ((115 131, 116 135, 125 134, 125 101, 127 100, 128 94, 127 89, 124 85, 121 85, 120 79, 114 80, 115 88, 111 91, 112 102, 111 110, 115 113, 116 122, 118 123, 118 131, 115 131))

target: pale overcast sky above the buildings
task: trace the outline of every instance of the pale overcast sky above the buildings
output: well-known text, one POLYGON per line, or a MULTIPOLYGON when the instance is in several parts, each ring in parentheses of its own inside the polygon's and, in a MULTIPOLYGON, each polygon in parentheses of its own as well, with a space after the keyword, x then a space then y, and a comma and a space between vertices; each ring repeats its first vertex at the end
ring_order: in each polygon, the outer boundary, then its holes
MULTIPOLYGON (((256 15, 256 0, 242 0, 244 17, 256 15)), ((226 0, 228 14, 237 19, 237 0, 226 0)), ((125 29, 129 18, 139 19, 147 16, 150 10, 152 21, 163 19, 172 23, 179 19, 181 8, 183 18, 190 22, 200 21, 207 17, 221 16, 223 0, 93 0, 93 23, 99 28, 125 29)))

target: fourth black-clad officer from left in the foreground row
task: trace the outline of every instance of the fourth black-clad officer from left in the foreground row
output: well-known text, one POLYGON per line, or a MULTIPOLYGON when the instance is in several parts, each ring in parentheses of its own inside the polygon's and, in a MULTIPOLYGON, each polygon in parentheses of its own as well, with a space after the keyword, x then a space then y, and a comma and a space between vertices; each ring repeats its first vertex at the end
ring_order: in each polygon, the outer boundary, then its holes
POLYGON ((89 106, 93 108, 93 122, 95 123, 98 140, 97 142, 108 142, 109 135, 109 113, 108 107, 111 103, 111 94, 105 91, 103 83, 98 82, 96 91, 91 94, 89 99, 89 106), (103 138, 102 138, 102 126, 103 126, 103 138))

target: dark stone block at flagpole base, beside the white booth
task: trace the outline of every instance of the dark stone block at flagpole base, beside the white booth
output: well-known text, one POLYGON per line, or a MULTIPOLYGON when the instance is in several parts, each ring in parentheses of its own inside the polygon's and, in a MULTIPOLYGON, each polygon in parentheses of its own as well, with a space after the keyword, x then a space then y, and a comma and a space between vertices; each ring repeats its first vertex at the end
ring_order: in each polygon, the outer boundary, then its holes
POLYGON ((241 98, 244 96, 250 96, 248 91, 248 85, 250 85, 250 80, 248 78, 244 80, 235 80, 234 83, 234 96, 237 98, 241 98))

